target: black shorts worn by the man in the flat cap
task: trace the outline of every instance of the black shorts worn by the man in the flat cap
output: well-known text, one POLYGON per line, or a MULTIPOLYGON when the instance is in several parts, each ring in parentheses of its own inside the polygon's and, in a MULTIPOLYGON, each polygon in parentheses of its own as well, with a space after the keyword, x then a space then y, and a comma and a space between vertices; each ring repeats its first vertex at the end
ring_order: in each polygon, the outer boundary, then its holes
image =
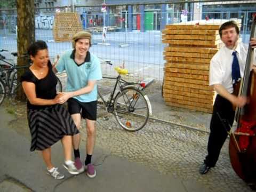
POLYGON ((96 121, 97 119, 97 101, 80 102, 77 99, 68 99, 68 111, 70 115, 81 114, 83 118, 96 121))

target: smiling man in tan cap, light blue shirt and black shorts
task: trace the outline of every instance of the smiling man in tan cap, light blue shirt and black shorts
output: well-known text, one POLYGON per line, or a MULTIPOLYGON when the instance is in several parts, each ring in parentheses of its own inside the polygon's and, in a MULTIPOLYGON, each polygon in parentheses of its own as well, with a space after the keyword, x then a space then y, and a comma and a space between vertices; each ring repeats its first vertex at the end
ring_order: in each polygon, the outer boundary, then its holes
MULTIPOLYGON (((90 178, 96 176, 94 165, 91 163, 97 119, 97 80, 102 78, 99 59, 89 52, 92 36, 86 31, 79 31, 73 37, 73 50, 66 51, 61 55, 55 72, 66 70, 68 80, 66 92, 60 97, 63 102, 68 102, 68 111, 77 126, 81 126, 81 118, 86 121, 86 174, 90 178)), ((63 103, 62 102, 62 103, 63 103)), ((80 134, 73 136, 75 165, 82 173, 84 166, 81 162, 79 143, 80 134)))

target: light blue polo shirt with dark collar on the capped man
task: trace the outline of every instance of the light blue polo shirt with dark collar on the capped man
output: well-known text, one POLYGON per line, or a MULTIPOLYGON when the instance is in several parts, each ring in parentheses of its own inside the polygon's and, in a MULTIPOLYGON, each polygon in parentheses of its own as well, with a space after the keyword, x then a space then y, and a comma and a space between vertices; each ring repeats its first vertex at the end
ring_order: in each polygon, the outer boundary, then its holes
MULTIPOLYGON (((68 50, 63 53, 58 61, 56 69, 58 72, 66 70, 68 81, 66 91, 77 91, 87 86, 89 80, 102 79, 100 60, 98 57, 87 52, 85 62, 77 65, 74 60, 75 51, 68 50)), ((81 102, 91 102, 97 100, 97 85, 90 93, 85 93, 73 97, 81 102)))

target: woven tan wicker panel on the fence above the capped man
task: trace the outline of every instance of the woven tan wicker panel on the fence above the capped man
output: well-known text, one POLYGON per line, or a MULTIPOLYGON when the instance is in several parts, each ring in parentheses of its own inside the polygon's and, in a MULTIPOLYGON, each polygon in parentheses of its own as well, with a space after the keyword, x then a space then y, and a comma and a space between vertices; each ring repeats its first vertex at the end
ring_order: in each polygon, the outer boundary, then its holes
POLYGON ((55 42, 71 41, 74 34, 83 30, 81 19, 77 13, 56 13, 53 22, 53 38, 55 42))

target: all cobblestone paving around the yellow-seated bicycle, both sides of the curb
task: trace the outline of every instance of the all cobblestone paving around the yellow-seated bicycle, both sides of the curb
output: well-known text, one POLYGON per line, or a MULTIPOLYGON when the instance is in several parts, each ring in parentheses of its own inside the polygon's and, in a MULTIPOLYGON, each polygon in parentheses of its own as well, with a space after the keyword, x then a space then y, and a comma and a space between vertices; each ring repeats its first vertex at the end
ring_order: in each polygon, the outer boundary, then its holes
MULTIPOLYGON (((100 92, 108 94, 113 85, 113 81, 101 81, 100 92)), ((173 174, 184 181, 194 179, 209 188, 209 191, 251 191, 230 165, 229 140, 222 148, 217 165, 206 175, 198 173, 207 153, 207 129, 211 114, 165 106, 161 97, 161 82, 150 85, 146 93, 153 106, 154 117, 201 131, 150 119, 142 130, 128 132, 118 125, 113 115, 98 109, 97 147, 163 174, 173 174)), ((86 140, 84 123, 82 140, 86 140)))

